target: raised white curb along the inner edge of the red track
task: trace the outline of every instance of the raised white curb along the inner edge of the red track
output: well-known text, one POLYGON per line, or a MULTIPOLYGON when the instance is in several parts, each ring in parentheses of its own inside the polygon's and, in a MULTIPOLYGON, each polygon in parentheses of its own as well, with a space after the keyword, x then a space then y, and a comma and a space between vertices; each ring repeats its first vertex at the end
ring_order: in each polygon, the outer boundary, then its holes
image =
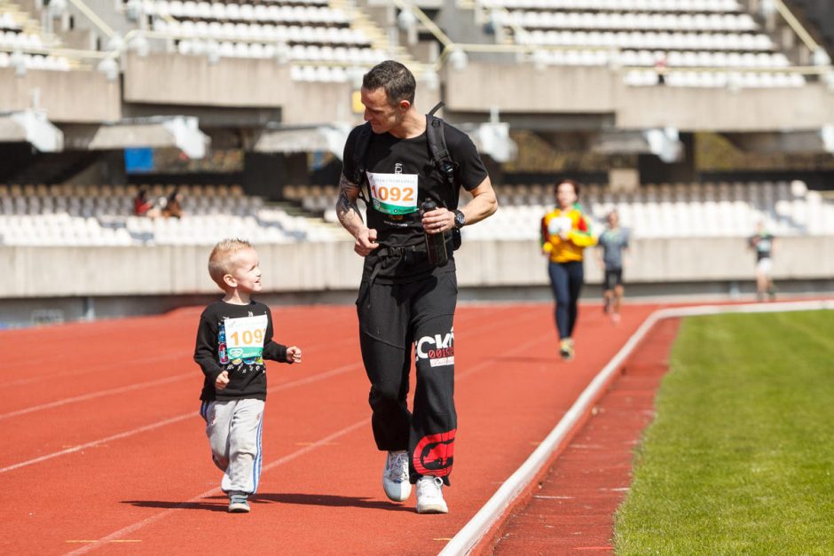
POLYGON ((515 498, 518 497, 527 485, 539 474, 541 469, 550 460, 555 449, 563 442, 564 438, 576 426, 579 419, 582 419, 587 411, 590 411, 594 400, 602 392, 612 377, 618 371, 625 359, 631 355, 633 349, 640 343, 643 337, 660 320, 666 318, 695 317, 705 315, 718 315, 724 313, 777 313, 784 311, 820 310, 834 309, 834 300, 825 301, 794 301, 785 303, 767 304, 739 304, 739 305, 704 305, 696 307, 681 307, 671 309, 657 309, 643 321, 642 325, 625 342, 602 371, 587 388, 579 395, 577 401, 570 406, 563 418, 556 423, 556 426, 547 435, 539 448, 533 450, 522 466, 511 474, 486 504, 463 526, 452 540, 445 545, 438 556, 459 556, 468 554, 476 547, 476 544, 492 529, 492 526, 500 520, 507 512, 515 498))

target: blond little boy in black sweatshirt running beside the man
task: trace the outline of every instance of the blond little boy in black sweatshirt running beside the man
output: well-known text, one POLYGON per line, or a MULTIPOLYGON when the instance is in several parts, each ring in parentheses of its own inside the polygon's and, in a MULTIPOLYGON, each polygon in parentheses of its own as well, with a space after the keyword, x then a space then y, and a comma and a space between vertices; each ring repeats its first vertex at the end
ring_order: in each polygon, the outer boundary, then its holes
POLYGON ((264 359, 301 363, 301 348, 272 341, 269 307, 252 299, 261 291, 256 250, 224 239, 209 255, 209 276, 224 291, 200 316, 194 361, 203 373, 200 414, 206 419, 212 460, 223 471, 220 488, 229 512, 249 511, 261 471, 261 429, 266 401, 264 359))

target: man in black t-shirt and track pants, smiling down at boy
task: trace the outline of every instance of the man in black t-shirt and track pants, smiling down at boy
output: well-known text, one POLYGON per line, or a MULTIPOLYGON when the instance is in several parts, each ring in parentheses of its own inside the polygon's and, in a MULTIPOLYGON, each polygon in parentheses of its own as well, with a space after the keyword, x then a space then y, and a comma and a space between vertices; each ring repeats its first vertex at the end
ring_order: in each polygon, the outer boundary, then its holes
POLYGON ((359 343, 371 381, 374 439, 379 450, 388 451, 383 488, 392 500, 404 501, 416 483, 417 512, 446 513, 441 486, 449 484, 457 428, 452 317, 458 288, 453 257, 433 267, 424 237, 483 220, 498 203, 475 145, 444 123, 456 166, 454 188, 445 181, 429 153, 427 117, 413 106, 415 89, 413 74, 392 60, 365 75, 362 104, 373 131, 361 176, 367 184, 355 183, 360 126, 345 145, 336 213, 356 238, 354 251, 365 257, 359 343), (458 210, 460 187, 473 199, 458 210), (370 195, 367 224, 356 204, 362 190, 370 195), (427 198, 439 208, 421 214, 427 198), (410 412, 412 344, 417 384, 410 412))

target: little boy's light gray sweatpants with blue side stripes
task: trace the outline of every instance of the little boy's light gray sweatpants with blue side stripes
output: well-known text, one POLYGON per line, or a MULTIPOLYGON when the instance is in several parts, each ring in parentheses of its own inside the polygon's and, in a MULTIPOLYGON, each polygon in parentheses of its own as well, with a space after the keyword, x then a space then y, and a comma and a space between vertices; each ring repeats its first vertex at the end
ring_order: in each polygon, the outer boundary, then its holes
POLYGON ((223 474, 224 492, 254 494, 261 476, 261 430, 264 401, 245 398, 203 402, 211 458, 223 474))

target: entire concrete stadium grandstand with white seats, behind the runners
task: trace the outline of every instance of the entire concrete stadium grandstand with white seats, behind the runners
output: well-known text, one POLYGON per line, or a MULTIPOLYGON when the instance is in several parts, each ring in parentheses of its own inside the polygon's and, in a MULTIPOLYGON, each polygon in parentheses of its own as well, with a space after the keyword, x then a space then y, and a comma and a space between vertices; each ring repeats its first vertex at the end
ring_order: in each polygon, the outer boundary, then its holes
POLYGON ((597 183, 582 198, 595 225, 617 208, 638 249, 662 254, 635 283, 726 290, 751 277, 740 239, 759 221, 788 246, 778 279, 830 280, 834 200, 815 191, 834 153, 830 25, 825 3, 793 4, 0 0, 0 261, 15 269, 0 297, 210 294, 192 262, 230 234, 281 264, 271 291, 354 287, 335 188, 313 184, 338 180, 361 75, 388 58, 413 69, 421 110, 445 103, 497 186, 499 213, 464 229, 461 286, 541 286, 549 182, 577 172, 597 183), (785 168, 702 171, 704 135, 785 168), (539 166, 514 168, 537 142, 539 166), (586 160, 566 163, 564 145, 586 160), (127 149, 153 153, 149 168, 129 169, 127 149), (223 151, 240 167, 213 166, 223 151), (132 215, 139 184, 178 186, 185 215, 132 215), (712 266, 690 261, 704 249, 712 266), (79 261, 109 274, 52 278, 79 261))

